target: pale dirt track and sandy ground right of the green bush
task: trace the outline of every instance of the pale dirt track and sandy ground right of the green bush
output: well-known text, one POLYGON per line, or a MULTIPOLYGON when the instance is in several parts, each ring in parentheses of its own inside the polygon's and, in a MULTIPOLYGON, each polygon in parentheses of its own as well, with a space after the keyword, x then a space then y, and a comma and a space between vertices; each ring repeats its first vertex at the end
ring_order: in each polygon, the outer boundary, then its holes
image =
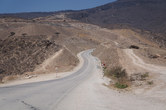
POLYGON ((151 86, 145 84, 140 87, 135 87, 133 89, 134 94, 148 97, 160 103, 166 103, 166 67, 145 63, 131 49, 124 49, 123 51, 128 56, 126 57, 128 64, 126 63, 125 67, 130 69, 130 74, 148 72, 150 75, 149 80, 154 82, 151 86))

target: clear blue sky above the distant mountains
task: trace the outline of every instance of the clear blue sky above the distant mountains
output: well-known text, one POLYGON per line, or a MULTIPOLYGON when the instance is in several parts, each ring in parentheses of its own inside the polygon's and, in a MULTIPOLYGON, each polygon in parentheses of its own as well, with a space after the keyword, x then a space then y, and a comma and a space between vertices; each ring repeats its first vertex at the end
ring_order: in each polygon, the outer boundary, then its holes
POLYGON ((0 13, 80 10, 115 0, 0 0, 0 13))

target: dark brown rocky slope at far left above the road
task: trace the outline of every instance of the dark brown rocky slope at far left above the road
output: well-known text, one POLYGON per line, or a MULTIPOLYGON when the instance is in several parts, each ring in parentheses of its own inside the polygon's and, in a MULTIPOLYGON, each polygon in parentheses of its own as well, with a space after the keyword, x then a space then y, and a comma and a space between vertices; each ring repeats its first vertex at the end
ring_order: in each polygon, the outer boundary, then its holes
POLYGON ((5 75, 34 71, 60 48, 39 36, 10 36, 0 40, 0 79, 5 75))

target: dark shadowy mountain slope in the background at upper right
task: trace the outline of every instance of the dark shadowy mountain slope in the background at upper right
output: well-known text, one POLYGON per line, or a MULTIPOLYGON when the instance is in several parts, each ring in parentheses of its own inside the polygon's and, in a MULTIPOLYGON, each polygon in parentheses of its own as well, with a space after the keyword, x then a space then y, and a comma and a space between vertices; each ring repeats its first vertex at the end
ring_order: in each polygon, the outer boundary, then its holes
POLYGON ((166 44, 165 0, 118 0, 100 7, 68 15, 107 28, 130 28, 160 45, 166 44))

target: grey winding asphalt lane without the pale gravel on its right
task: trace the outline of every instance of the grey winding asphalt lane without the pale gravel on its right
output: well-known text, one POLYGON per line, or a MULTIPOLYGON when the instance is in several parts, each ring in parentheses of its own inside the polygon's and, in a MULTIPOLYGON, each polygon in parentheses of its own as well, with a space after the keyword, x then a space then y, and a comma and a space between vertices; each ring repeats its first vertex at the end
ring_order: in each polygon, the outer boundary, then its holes
POLYGON ((0 110, 54 110, 96 67, 93 50, 82 52, 82 67, 70 76, 50 81, 0 87, 0 110))

